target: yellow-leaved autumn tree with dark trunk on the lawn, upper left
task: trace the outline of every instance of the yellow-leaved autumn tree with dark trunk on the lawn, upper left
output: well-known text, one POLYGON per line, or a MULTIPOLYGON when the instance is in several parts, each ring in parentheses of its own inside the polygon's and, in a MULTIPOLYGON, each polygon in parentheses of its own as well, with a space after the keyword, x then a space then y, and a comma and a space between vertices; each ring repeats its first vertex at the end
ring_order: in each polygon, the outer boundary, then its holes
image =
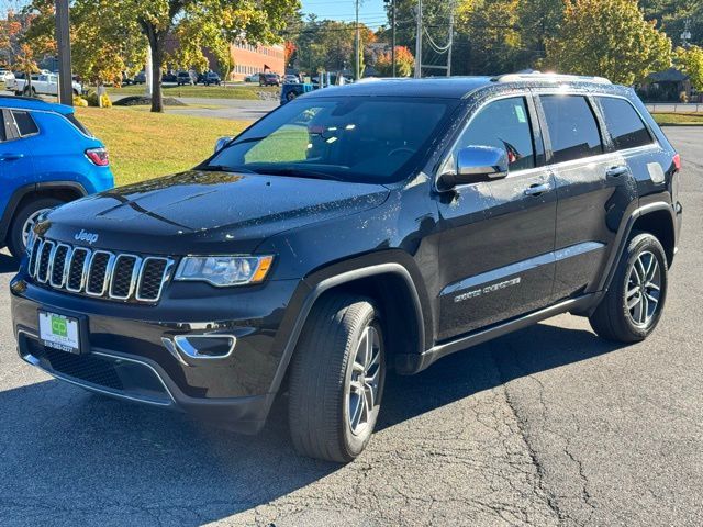
MULTIPOLYGON (((37 15, 35 36, 51 36, 45 10, 52 0, 33 0, 27 12, 37 15)), ((161 70, 167 58, 183 66, 207 68, 203 49, 231 68, 230 44, 280 42, 286 21, 299 0, 74 0, 71 45, 76 64, 90 77, 114 78, 118 70, 147 48, 152 58, 152 111, 163 112, 161 70), (75 41, 75 42, 74 42, 75 41), (167 43, 178 42, 167 56, 167 43), (83 53, 85 52, 85 53, 83 53)), ((34 25, 34 24, 33 24, 34 25)))

